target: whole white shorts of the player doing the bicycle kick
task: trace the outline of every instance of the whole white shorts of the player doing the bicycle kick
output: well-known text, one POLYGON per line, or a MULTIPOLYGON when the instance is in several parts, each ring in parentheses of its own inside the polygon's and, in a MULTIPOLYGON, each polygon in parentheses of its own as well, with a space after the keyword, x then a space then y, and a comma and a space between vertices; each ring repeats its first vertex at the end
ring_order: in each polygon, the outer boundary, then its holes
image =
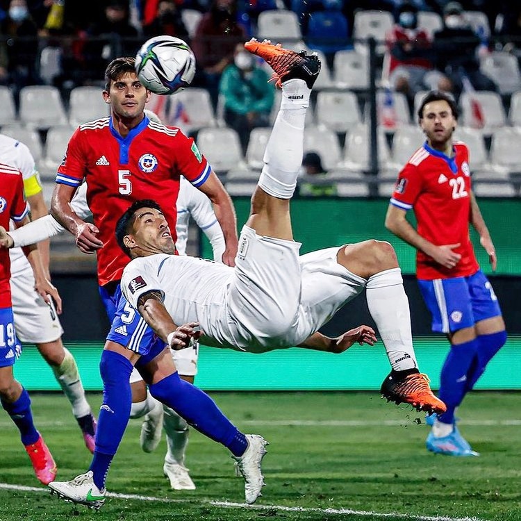
POLYGON ((303 256, 299 249, 242 229, 228 295, 235 347, 260 353, 299 345, 365 288, 336 261, 340 247, 303 256))

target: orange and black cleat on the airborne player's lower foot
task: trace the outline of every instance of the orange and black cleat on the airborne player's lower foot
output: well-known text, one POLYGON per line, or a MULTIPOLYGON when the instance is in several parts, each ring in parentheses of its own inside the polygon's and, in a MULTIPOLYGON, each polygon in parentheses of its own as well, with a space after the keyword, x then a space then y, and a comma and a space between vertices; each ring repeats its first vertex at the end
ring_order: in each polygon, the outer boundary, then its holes
POLYGON ((411 404, 417 411, 442 414, 447 406, 433 395, 429 387, 427 374, 413 372, 403 377, 397 371, 392 371, 381 384, 380 392, 388 402, 395 404, 411 404))

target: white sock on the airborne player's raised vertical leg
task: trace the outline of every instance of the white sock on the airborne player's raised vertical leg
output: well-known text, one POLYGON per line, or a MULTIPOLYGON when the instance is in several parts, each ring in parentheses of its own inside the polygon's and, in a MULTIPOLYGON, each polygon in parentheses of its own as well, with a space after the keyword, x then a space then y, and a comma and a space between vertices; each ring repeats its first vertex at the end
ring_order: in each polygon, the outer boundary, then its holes
POLYGON ((304 80, 282 85, 282 101, 264 153, 258 185, 269 195, 291 199, 304 153, 304 121, 311 89, 304 80))

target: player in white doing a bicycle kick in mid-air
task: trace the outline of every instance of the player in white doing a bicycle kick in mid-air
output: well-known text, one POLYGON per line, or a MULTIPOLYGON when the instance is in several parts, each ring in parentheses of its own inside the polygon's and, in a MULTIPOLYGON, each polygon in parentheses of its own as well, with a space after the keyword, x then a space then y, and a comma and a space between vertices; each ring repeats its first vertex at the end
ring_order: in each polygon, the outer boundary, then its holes
POLYGON ((318 330, 365 289, 392 367, 382 394, 418 410, 445 411, 417 369, 408 299, 392 246, 369 240, 299 256, 290 199, 320 61, 270 42, 251 40, 245 47, 274 69, 282 101, 235 267, 174 255, 174 241, 158 205, 136 201, 116 228, 119 246, 133 259, 122 276, 124 296, 174 349, 201 334, 205 345, 255 353, 292 346, 343 352, 356 341, 374 343, 374 331, 360 326, 329 338, 318 330), (185 328, 181 340, 178 325, 188 322, 201 332, 185 328))

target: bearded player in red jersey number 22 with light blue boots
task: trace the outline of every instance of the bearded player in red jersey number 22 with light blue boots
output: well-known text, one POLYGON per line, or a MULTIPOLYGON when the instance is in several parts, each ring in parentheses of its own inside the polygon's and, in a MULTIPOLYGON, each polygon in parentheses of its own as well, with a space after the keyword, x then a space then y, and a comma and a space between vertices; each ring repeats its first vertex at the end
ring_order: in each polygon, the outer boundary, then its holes
POLYGON ((432 330, 445 333, 451 343, 440 378, 447 412, 429 417, 433 428, 427 449, 474 456, 477 452, 456 429, 454 410, 504 345, 506 332, 497 297, 474 256, 469 224, 479 233, 493 270, 497 260, 472 193, 468 149, 452 140, 458 117, 454 99, 429 92, 418 117, 427 141, 399 173, 386 227, 417 249, 416 274, 432 330), (411 208, 417 229, 406 220, 411 208))

